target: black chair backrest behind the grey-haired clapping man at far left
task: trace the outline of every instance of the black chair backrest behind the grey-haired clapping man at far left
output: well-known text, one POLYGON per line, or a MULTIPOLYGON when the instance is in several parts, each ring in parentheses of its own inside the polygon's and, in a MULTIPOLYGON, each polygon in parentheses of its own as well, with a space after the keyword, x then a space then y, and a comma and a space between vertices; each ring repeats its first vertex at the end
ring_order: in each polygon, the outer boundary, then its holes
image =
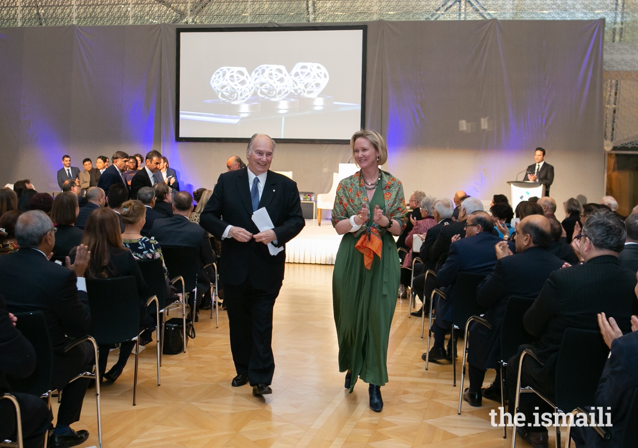
POLYGON ((53 345, 48 334, 47 319, 41 311, 16 313, 15 326, 36 352, 36 370, 24 379, 8 377, 12 392, 41 396, 51 389, 53 345))

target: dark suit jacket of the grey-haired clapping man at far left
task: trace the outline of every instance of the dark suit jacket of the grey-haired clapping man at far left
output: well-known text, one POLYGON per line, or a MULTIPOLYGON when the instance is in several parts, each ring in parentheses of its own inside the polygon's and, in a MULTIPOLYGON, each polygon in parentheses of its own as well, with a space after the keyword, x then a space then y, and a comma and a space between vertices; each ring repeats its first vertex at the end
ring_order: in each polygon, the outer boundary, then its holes
POLYGON ((77 289, 75 272, 51 263, 36 249, 20 249, 0 257, 0 294, 12 313, 40 310, 47 319, 54 350, 71 338, 84 336, 91 311, 84 291, 77 289))

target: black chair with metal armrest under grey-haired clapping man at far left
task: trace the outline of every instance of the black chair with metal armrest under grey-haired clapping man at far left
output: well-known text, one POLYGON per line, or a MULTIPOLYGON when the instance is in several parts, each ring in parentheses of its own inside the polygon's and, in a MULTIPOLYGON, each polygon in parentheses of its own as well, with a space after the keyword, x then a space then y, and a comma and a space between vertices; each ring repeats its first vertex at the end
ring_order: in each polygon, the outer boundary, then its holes
MULTIPOLYGON (((16 328, 31 342, 36 352, 36 368, 29 377, 24 379, 10 379, 11 392, 21 392, 40 396, 47 400, 49 409, 51 408, 51 396, 55 389, 51 389, 53 376, 53 346, 48 333, 47 321, 41 311, 16 313, 18 318, 16 328)), ((94 372, 83 372, 71 381, 80 378, 96 379, 98 377, 98 344, 91 336, 77 338, 64 347, 64 352, 73 349, 76 345, 89 341, 93 344, 95 363, 94 372)), ((58 391, 58 396, 61 391, 58 391)), ((98 448, 102 447, 102 422, 100 413, 100 381, 96 380, 95 400, 98 420, 98 448)), ((45 437, 45 448, 47 438, 45 437)))

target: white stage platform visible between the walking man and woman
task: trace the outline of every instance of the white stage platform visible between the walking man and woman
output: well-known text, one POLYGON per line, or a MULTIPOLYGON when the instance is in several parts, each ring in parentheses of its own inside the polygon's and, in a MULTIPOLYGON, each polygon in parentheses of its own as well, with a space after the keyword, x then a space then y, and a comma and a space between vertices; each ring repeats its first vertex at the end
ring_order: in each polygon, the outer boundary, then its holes
POLYGON ((306 219, 306 227, 286 244, 286 263, 334 264, 341 238, 329 220, 318 226, 306 219))

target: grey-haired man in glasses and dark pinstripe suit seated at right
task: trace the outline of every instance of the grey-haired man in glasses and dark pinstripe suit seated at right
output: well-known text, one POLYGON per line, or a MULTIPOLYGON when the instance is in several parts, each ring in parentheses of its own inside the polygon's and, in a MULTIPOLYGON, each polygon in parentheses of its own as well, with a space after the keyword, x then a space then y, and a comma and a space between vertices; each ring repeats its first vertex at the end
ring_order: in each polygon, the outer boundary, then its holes
MULTIPOLYGON (((604 312, 614 316, 623 331, 629 331, 632 310, 638 301, 634 293, 635 273, 623 268, 618 261, 625 238, 625 226, 617 215, 604 210, 590 213, 582 236, 574 240, 585 263, 551 273, 524 315, 524 328, 539 340, 521 345, 507 363, 510 403, 516 398, 519 358, 524 349, 531 349, 542 364, 531 356, 524 358, 521 386, 531 386, 553 401, 556 399, 556 359, 565 329, 596 330, 597 314, 604 312)), ((521 394, 519 411, 525 415, 523 423, 531 423, 535 412, 549 411, 549 407, 536 394, 521 394)), ((544 426, 520 427, 516 432, 534 446, 547 446, 544 426)))

